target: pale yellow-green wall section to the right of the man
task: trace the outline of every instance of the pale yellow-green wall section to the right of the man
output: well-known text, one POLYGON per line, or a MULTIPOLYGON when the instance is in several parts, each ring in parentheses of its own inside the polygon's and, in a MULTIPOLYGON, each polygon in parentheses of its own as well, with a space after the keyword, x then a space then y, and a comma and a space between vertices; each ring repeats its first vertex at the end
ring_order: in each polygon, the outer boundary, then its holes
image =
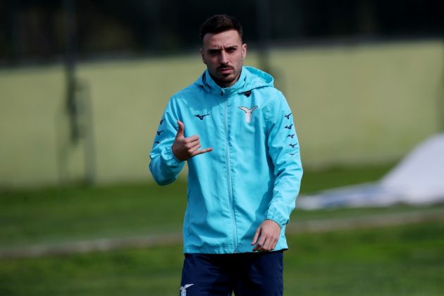
MULTIPOLYGON (((400 159, 444 117, 443 43, 276 51, 312 166, 400 159)), ((442 122, 442 121, 441 121, 442 122)))

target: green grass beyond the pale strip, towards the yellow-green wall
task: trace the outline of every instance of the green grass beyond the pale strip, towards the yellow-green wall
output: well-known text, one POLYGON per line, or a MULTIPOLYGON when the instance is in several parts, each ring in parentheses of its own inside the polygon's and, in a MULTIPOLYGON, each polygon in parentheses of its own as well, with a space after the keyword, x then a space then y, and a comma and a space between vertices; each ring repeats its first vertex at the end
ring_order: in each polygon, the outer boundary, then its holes
MULTIPOLYGON (((390 165, 306 171, 302 193, 378 180, 389 168, 390 165)), ((0 248, 180 232, 186 203, 185 187, 185 183, 176 181, 164 187, 139 183, 3 191, 0 195, 0 248)), ((295 211, 292 221, 310 218, 316 213, 319 217, 342 216, 343 210, 328 214, 325 211, 309 214, 295 211)))

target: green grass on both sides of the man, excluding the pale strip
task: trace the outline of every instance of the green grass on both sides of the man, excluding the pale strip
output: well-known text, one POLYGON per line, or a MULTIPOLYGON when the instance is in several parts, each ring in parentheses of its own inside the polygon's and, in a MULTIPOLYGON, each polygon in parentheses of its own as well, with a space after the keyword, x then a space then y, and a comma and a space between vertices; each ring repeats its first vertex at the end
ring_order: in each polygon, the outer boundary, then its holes
MULTIPOLYGON (((387 166, 306 172, 302 192, 377 180, 387 166)), ((185 186, 1 192, 0 249, 179 232, 185 186)), ((443 207, 440 205, 438 207, 443 207)), ((295 211, 292 221, 411 210, 295 211)), ((285 295, 442 295, 444 221, 288 235, 285 295)), ((0 295, 178 295, 180 244, 0 259, 0 295)))

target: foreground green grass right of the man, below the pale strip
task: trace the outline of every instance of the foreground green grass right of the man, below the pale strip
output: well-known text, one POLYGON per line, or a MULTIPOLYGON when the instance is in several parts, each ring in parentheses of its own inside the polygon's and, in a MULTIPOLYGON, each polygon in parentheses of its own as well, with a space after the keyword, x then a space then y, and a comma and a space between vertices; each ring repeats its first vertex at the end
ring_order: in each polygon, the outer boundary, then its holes
POLYGON ((288 295, 442 295, 444 223, 290 236, 288 295))

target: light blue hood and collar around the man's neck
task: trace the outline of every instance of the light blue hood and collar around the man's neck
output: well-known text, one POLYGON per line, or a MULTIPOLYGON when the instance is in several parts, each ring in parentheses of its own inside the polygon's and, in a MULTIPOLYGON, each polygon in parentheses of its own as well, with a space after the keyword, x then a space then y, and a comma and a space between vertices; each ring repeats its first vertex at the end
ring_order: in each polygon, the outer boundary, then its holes
POLYGON ((195 85, 203 87, 206 92, 233 94, 248 92, 259 87, 273 87, 273 76, 257 68, 243 66, 239 80, 230 87, 220 87, 214 82, 208 69, 196 80, 195 85))

